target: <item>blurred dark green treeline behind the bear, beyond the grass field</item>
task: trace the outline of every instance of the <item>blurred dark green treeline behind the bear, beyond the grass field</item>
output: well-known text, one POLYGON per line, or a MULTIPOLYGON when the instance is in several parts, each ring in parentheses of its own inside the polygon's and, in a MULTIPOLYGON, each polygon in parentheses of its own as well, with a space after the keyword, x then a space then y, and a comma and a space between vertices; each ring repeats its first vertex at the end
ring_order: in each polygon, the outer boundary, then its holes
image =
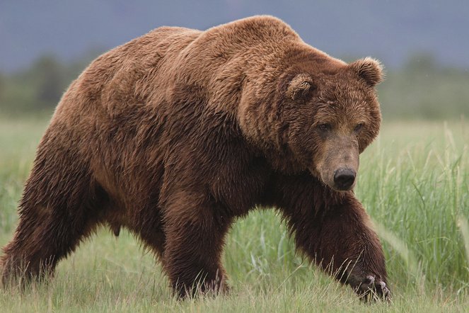
MULTIPOLYGON (((26 69, 0 75, 0 114, 50 115, 67 86, 98 54, 89 52, 69 63, 43 55, 26 69)), ((451 119, 469 116, 468 87, 469 71, 442 66, 421 53, 388 69, 378 95, 386 119, 451 119)))

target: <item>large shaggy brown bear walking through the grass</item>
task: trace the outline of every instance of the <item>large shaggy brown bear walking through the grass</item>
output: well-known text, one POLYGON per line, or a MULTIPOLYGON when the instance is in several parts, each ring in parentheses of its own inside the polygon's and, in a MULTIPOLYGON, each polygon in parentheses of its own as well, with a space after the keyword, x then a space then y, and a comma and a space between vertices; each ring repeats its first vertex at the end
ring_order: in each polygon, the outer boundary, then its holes
POLYGON ((272 207, 318 266, 359 295, 389 297, 352 191, 381 123, 381 72, 271 16, 156 28, 110 50, 69 86, 42 137, 2 280, 51 273, 108 224, 154 251, 177 295, 224 291, 226 232, 272 207))

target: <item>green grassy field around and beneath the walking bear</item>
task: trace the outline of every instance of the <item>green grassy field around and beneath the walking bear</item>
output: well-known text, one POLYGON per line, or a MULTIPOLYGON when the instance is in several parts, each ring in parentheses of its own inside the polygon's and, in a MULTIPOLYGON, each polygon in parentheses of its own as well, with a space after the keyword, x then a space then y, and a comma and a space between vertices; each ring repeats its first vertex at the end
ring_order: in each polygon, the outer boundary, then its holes
MULTIPOLYGON (((47 125, 0 119, 0 246, 47 125)), ((393 304, 364 305, 294 253, 272 211, 238 221, 226 240, 231 294, 178 301, 127 232, 108 229, 59 263, 50 282, 0 289, 1 312, 465 312, 469 307, 469 123, 384 123, 361 157, 357 196, 383 241, 393 304)))

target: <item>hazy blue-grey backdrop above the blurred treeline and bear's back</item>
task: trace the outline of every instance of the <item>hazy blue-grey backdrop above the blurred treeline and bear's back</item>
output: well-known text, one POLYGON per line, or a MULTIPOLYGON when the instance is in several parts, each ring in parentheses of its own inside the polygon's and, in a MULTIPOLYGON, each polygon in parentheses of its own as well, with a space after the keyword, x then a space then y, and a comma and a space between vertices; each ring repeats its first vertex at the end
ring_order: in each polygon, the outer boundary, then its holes
POLYGON ((0 0, 0 72, 42 54, 68 61, 108 50, 161 25, 206 29, 271 14, 335 57, 380 58, 396 67, 415 52, 469 69, 469 1, 0 0))

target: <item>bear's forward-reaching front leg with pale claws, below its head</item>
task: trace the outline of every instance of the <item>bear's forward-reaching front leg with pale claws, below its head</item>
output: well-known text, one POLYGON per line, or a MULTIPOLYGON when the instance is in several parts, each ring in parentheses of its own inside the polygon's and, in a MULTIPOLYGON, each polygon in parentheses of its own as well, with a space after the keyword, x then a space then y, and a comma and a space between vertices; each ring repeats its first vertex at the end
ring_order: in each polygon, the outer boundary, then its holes
POLYGON ((316 204, 321 203, 321 207, 286 211, 296 246, 364 300, 390 300, 383 250, 368 215, 352 193, 335 200, 337 203, 330 206, 319 201, 316 204))

